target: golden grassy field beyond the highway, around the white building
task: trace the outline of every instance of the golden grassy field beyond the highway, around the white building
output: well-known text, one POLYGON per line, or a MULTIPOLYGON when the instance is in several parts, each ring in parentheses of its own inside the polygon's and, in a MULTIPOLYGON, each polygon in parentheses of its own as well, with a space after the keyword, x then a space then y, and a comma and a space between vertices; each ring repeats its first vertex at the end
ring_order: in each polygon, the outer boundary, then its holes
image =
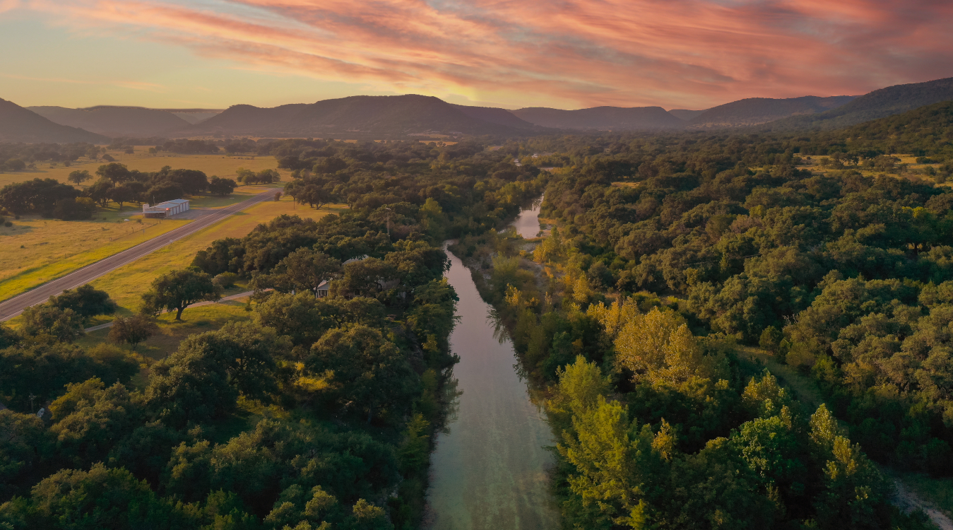
MULTIPOLYGON (((242 186, 230 196, 189 197, 193 208, 223 208, 272 189, 242 186)), ((143 219, 136 206, 119 212, 114 204, 88 221, 60 221, 24 215, 13 226, 0 226, 0 300, 6 300, 68 275, 104 257, 170 232, 187 219, 143 219)))

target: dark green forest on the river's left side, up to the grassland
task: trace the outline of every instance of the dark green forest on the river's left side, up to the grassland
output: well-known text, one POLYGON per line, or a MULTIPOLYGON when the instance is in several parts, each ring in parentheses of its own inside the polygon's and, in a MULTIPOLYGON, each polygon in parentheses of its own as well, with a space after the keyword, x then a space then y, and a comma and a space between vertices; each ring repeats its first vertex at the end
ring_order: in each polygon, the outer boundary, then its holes
POLYGON ((0 328, 0 527, 416 527, 455 361, 440 245, 496 227, 543 181, 480 146, 271 149, 307 170, 290 187, 351 209, 216 241, 188 271, 157 277, 144 315, 116 327, 134 345, 126 332, 148 333, 176 289, 214 299, 211 278, 227 275, 258 290, 250 322, 153 363, 72 344, 88 315, 114 310, 89 288, 0 328), (330 158, 343 162, 333 173, 330 158), (330 295, 315 296, 325 279, 330 295))

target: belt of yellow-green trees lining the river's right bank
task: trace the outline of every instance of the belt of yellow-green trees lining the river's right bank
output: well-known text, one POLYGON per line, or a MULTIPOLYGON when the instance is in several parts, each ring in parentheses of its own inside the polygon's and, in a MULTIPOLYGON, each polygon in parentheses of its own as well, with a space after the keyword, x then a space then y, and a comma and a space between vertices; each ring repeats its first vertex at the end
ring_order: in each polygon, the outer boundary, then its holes
POLYGON ((594 288, 608 270, 584 270, 558 229, 534 253, 512 233, 454 250, 489 269, 477 285, 548 387, 567 527, 928 527, 890 504, 890 480, 830 408, 805 407, 663 298, 594 288))

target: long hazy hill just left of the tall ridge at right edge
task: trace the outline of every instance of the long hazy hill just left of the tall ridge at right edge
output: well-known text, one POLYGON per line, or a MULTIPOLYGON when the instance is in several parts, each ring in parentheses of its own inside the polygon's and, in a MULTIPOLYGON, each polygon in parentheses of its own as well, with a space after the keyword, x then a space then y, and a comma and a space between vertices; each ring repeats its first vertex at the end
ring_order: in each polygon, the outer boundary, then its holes
POLYGON ((857 96, 805 95, 786 99, 749 97, 712 107, 689 120, 687 129, 749 127, 799 114, 816 114, 836 109, 857 96))

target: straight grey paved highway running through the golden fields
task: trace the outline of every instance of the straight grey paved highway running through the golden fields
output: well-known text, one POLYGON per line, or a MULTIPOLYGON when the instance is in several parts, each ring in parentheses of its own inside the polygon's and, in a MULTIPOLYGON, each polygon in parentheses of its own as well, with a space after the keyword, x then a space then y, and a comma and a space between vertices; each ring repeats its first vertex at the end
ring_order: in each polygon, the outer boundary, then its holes
POLYGON ((272 200, 274 199, 274 193, 277 191, 278 190, 269 190, 267 192, 254 195, 248 200, 233 204, 228 208, 212 210, 210 214, 203 215, 181 228, 176 228, 172 232, 157 235, 149 241, 139 243, 131 249, 127 249, 119 254, 114 254, 95 263, 91 263, 90 265, 87 265, 78 271, 74 271, 69 275, 48 281, 47 283, 44 283, 43 285, 33 289, 32 291, 28 291, 23 295, 14 296, 9 300, 0 303, 0 320, 9 320, 14 316, 23 313, 24 309, 47 301, 50 296, 58 296, 67 289, 75 289, 84 283, 89 283, 101 275, 112 272, 123 265, 132 263, 144 255, 148 255, 155 250, 161 249, 176 239, 180 239, 186 235, 194 234, 204 228, 208 228, 209 226, 212 226, 229 215, 235 214, 236 212, 241 212, 242 210, 245 210, 254 204, 266 200, 272 200))

